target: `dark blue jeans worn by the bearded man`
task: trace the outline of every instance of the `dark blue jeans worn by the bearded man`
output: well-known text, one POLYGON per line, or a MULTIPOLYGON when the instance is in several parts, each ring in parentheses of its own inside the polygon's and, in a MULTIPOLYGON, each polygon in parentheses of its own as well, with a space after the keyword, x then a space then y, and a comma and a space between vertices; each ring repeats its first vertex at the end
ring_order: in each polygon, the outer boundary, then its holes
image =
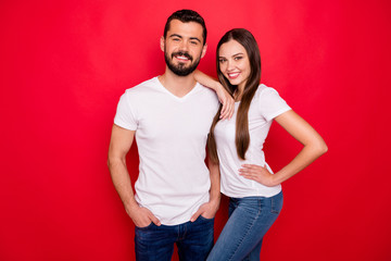
POLYGON ((169 261, 177 245, 180 261, 205 260, 213 247, 214 219, 199 216, 179 225, 135 228, 136 260, 169 261))

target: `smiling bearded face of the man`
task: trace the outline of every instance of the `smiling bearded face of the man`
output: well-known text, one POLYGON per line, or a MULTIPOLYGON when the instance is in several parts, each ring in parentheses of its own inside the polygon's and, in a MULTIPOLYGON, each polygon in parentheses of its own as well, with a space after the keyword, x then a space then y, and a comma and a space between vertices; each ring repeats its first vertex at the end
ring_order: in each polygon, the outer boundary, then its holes
POLYGON ((202 26, 195 22, 171 21, 166 38, 161 39, 161 48, 173 73, 187 76, 197 69, 206 51, 206 45, 202 44, 202 26))

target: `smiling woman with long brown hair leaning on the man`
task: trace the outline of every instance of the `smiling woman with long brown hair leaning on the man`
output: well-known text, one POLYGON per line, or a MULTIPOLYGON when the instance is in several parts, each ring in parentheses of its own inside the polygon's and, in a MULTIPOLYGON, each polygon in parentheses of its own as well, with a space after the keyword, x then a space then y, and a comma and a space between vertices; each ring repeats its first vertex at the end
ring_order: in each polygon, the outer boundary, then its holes
MULTIPOLYGON (((327 151, 319 134, 282 100, 260 85, 261 57, 247 29, 227 32, 217 45, 217 74, 235 98, 231 119, 217 112, 209 137, 212 161, 219 163, 222 192, 230 197, 229 219, 207 260, 260 260, 262 239, 282 208, 281 183, 327 151), (303 145, 297 157, 273 174, 263 144, 275 120, 303 145)), ((195 78, 211 85, 197 72, 195 78)))

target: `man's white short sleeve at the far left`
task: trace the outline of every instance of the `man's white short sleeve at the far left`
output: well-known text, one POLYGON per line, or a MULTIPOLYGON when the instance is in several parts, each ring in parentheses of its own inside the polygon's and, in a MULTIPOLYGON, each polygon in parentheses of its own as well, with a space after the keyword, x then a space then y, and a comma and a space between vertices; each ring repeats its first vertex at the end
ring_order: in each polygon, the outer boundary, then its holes
POLYGON ((138 125, 137 119, 129 102, 128 95, 128 92, 125 92, 121 96, 114 123, 119 127, 136 130, 138 125))

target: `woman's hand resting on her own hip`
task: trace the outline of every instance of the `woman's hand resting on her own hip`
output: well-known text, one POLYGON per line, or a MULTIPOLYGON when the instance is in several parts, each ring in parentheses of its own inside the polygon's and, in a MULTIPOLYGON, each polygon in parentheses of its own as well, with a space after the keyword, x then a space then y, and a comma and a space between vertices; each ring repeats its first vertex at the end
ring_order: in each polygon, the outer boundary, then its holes
POLYGON ((274 174, 272 174, 265 166, 243 164, 242 169, 239 169, 239 175, 248 179, 255 181, 267 187, 278 185, 275 183, 274 174))

